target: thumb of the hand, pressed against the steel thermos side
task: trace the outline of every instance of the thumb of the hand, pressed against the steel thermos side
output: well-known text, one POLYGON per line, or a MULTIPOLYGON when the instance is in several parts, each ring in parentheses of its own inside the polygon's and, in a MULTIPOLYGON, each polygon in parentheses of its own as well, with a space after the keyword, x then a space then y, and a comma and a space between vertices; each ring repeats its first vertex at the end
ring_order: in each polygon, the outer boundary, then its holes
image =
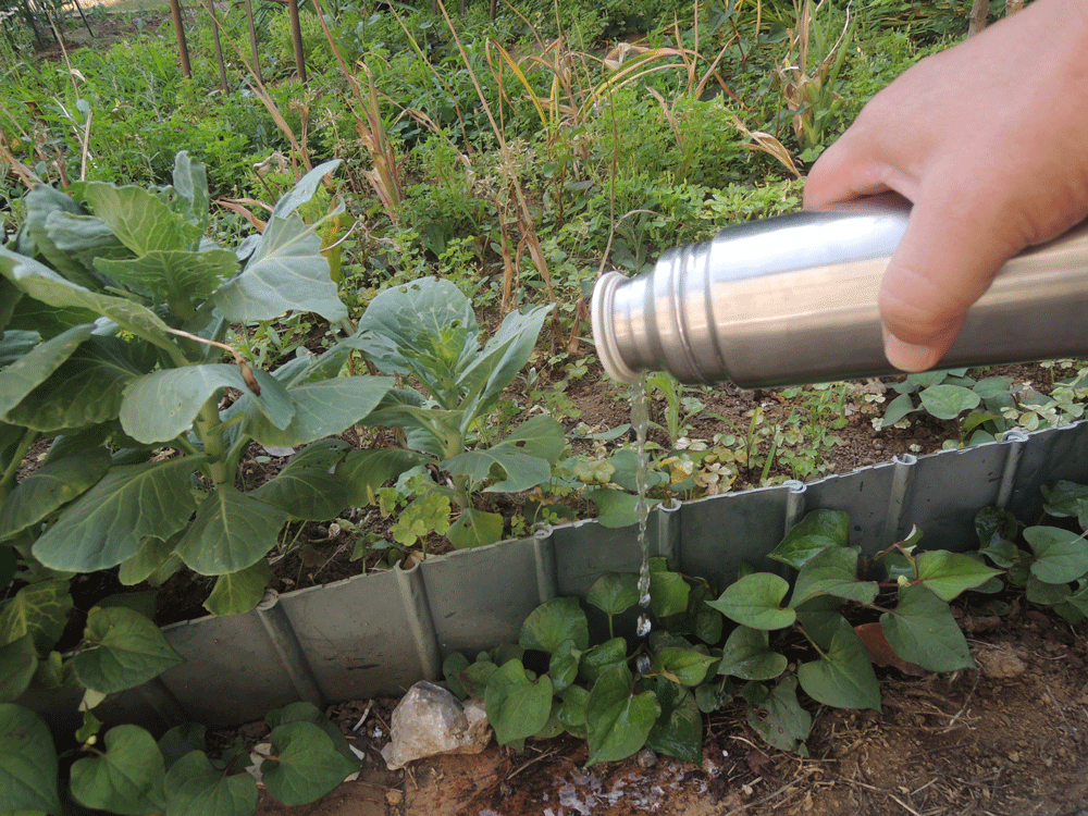
POLYGON ((925 371, 940 362, 967 309, 1023 248, 1004 221, 962 199, 923 196, 915 203, 880 286, 885 354, 892 366, 925 371))

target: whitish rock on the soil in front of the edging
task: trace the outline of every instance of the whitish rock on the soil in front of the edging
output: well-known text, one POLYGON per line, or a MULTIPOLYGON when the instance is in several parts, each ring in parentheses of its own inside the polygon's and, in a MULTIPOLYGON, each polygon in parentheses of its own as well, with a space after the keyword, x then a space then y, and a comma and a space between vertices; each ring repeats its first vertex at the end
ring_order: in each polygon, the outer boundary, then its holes
POLYGON ((441 685, 421 680, 393 709, 391 742, 382 749, 390 770, 436 754, 479 754, 491 741, 483 701, 463 704, 441 685))

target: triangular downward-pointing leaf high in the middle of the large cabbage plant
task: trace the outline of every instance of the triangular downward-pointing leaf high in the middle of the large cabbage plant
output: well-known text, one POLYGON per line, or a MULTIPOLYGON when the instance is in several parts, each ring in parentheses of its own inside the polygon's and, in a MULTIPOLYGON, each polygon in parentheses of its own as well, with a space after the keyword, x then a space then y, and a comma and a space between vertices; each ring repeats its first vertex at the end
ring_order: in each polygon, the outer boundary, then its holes
POLYGON ((227 249, 153 250, 138 258, 98 258, 95 269, 126 288, 149 296, 153 304, 169 304, 174 314, 187 320, 193 317, 195 305, 237 273, 238 258, 227 249))

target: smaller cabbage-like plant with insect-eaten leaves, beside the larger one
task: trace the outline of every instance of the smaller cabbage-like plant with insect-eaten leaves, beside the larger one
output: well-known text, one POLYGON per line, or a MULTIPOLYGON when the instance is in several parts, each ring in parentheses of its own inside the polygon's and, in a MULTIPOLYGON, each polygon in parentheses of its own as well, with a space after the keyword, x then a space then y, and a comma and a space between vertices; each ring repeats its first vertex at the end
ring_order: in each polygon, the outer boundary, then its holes
MULTIPOLYGON (((529 360, 549 307, 511 312, 481 343, 472 304, 449 281, 422 279, 378 295, 345 343, 378 370, 410 376, 423 391, 394 388, 366 423, 404 429, 405 447, 356 450, 344 474, 364 504, 385 481, 410 468, 432 465, 448 474, 413 487, 445 496, 456 518, 445 531, 456 547, 503 537, 504 518, 482 506, 486 494, 519 493, 544 484, 566 447, 562 426, 536 416, 496 438, 486 419, 529 360)), ((434 527, 438 531, 437 526, 434 527)), ((429 531, 411 532, 423 537, 429 531), (422 534, 421 534, 422 533, 422 534)))

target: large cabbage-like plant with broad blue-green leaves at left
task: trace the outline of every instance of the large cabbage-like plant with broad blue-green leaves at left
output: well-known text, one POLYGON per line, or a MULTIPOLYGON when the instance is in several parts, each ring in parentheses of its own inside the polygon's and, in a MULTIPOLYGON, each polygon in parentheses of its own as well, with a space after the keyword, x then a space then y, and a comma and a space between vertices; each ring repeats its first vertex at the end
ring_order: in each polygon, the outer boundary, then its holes
POLYGON ((295 212, 334 166, 304 177, 236 252, 203 237, 205 174, 185 153, 170 188, 89 182, 72 197, 27 196, 15 250, 0 250, 0 546, 27 582, 16 601, 73 572, 120 567, 126 584, 158 583, 184 565, 217 577, 209 610, 244 611, 263 595, 264 556, 287 520, 347 505, 330 472, 347 445, 325 437, 392 381, 337 378, 347 348, 272 374, 233 351, 218 361, 230 323, 345 317, 314 225, 295 212), (17 481, 30 445, 50 437, 17 481), (239 463, 255 440, 305 449, 246 491, 239 463))

